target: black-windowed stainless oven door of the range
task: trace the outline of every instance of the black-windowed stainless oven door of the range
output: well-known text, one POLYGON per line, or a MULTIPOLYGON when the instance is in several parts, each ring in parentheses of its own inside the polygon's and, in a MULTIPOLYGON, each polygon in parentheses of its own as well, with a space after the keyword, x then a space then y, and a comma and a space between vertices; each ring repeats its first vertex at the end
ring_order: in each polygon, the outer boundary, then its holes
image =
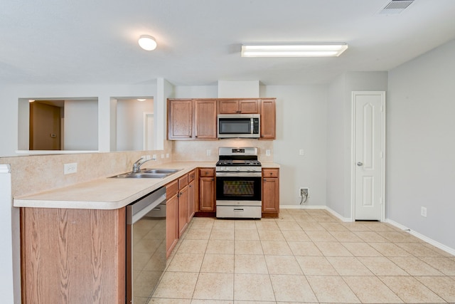
POLYGON ((261 172, 217 172, 217 206, 261 206, 261 172))

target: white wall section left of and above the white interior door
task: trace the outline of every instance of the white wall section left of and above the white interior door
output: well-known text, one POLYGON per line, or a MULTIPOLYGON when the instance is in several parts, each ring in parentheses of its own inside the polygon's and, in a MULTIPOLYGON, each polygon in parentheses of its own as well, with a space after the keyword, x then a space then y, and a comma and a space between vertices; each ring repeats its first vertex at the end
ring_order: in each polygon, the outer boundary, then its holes
MULTIPOLYGON (((386 91, 387 72, 349 72, 329 86, 327 132, 327 206, 345 219, 351 210, 351 94, 353 91, 386 91)), ((387 100, 386 100, 387 103, 387 100)))

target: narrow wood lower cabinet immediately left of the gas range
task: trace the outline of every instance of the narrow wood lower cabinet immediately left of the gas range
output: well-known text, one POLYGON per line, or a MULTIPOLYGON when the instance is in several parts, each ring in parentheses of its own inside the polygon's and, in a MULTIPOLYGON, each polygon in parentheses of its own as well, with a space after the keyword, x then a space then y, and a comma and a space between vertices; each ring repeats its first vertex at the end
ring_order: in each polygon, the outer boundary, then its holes
POLYGON ((201 212, 215 212, 215 168, 199 169, 199 208, 201 212))

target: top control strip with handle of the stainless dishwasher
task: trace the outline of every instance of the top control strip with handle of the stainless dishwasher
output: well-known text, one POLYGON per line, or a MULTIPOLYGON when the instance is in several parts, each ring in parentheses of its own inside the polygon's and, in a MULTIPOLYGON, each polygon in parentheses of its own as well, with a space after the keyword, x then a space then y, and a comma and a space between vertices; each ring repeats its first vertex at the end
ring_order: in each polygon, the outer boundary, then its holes
POLYGON ((142 199, 135 201, 127 206, 127 225, 131 225, 142 219, 151 210, 155 209, 159 204, 166 201, 166 188, 161 188, 152 192, 142 199))

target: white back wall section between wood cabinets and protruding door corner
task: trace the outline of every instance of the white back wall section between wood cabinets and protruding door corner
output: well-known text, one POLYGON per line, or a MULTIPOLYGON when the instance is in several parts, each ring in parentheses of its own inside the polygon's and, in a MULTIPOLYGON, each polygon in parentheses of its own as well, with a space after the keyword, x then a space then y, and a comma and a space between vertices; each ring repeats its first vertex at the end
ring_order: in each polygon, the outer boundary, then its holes
POLYGON ((261 86, 261 97, 277 98, 273 159, 281 166, 281 205, 298 205, 300 187, 309 188, 306 204, 326 205, 327 92, 326 85, 261 86))

